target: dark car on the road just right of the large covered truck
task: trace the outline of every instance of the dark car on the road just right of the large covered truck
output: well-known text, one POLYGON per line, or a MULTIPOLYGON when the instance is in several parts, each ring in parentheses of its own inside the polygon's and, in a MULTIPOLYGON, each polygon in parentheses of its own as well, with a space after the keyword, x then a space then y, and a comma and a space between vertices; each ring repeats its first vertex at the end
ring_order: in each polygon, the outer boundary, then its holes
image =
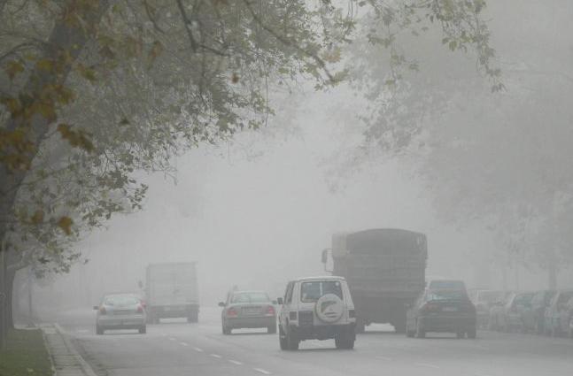
POLYGON ((418 297, 407 311, 406 334, 424 338, 429 332, 476 338, 476 306, 465 289, 426 289, 418 297))

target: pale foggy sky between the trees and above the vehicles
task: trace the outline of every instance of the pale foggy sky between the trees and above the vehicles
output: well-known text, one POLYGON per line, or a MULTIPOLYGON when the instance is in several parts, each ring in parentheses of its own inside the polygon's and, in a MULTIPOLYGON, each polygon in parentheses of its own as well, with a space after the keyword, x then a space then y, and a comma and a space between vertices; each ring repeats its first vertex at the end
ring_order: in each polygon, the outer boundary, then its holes
MULTIPOLYGON (((491 2, 487 13, 492 45, 507 77, 502 97, 529 85, 512 71, 531 62, 543 72, 569 72, 573 66, 570 34, 563 33, 573 14, 564 10, 571 11, 571 4, 510 3, 522 4, 491 2)), ((468 64, 471 57, 447 50, 424 56, 420 75, 430 76, 430 83, 480 79, 468 64)), ((542 78, 563 81, 551 74, 542 78)), ((488 90, 483 86, 467 90, 460 102, 478 112, 476 101, 488 90)), ((348 163, 365 127, 359 119, 363 98, 350 88, 319 93, 301 88, 277 93, 275 100, 276 116, 262 132, 239 134, 231 143, 177 157, 173 175, 139 176, 150 186, 143 210, 115 215, 106 229, 78 243, 86 262, 67 275, 39 281, 38 310, 86 307, 105 292, 136 291, 146 265, 156 262, 197 261, 202 305, 216 304, 234 285, 281 295, 288 280, 324 273, 321 249, 330 246, 333 233, 373 227, 427 234, 428 276, 463 279, 468 288, 546 288, 546 271, 536 265, 499 265, 496 255, 504 245, 486 226, 460 225, 441 214, 439 195, 420 173, 427 163, 421 156, 348 163)), ((489 102, 484 106, 498 99, 489 102)), ((494 112, 488 121, 495 117, 494 112)), ((437 123, 455 133, 458 121, 463 117, 453 115, 437 123)), ((19 279, 25 274, 20 272, 19 279)), ((561 270, 558 286, 571 284, 573 274, 561 270)))

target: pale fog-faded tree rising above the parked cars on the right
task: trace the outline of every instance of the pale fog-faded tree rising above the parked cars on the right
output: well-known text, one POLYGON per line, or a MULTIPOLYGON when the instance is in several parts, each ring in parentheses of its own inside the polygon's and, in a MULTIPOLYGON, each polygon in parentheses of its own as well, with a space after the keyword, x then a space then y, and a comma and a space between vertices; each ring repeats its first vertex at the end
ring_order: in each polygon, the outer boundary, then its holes
MULTIPOLYGON (((495 265, 541 266, 554 287, 558 265, 573 256, 568 104, 573 73, 563 65, 570 50, 561 48, 565 38, 544 25, 543 19, 555 21, 546 14, 553 12, 551 4, 511 4, 515 12, 498 4, 488 13, 499 19, 493 32, 510 41, 502 53, 507 90, 493 96, 491 85, 463 58, 430 52, 436 34, 400 36, 402 45, 419 51, 400 65, 411 66, 409 73, 379 68, 376 63, 384 58, 379 50, 358 51, 366 76, 387 81, 360 88, 378 105, 364 115, 352 164, 381 154, 414 161, 445 219, 492 231, 500 250, 489 255, 495 265), (528 12, 539 25, 521 25, 530 19, 528 12)), ((498 69, 484 69, 494 80, 499 77, 498 69)), ((494 83, 494 91, 505 88, 499 85, 494 83)))

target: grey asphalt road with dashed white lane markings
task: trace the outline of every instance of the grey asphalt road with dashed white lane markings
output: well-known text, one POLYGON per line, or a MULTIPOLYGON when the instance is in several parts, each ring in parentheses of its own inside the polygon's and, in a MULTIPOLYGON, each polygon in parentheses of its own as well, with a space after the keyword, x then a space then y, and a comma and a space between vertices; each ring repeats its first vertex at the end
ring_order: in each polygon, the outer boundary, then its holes
POLYGON ((290 352, 279 349, 278 334, 221 334, 214 308, 203 309, 199 324, 168 320, 148 326, 147 334, 96 335, 91 311, 62 314, 58 324, 74 336, 94 371, 110 376, 573 374, 573 340, 531 334, 478 332, 476 340, 430 334, 422 340, 376 326, 358 336, 353 350, 337 350, 334 341, 304 341, 290 352))

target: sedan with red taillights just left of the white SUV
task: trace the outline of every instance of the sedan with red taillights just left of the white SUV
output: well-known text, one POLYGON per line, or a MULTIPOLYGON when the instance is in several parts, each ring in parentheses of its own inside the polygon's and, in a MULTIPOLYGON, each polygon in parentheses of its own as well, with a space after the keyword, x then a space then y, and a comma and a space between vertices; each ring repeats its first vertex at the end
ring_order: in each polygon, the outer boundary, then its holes
POLYGON ((263 291, 232 291, 226 302, 220 302, 223 334, 233 329, 266 327, 267 333, 276 333, 275 303, 263 291))

